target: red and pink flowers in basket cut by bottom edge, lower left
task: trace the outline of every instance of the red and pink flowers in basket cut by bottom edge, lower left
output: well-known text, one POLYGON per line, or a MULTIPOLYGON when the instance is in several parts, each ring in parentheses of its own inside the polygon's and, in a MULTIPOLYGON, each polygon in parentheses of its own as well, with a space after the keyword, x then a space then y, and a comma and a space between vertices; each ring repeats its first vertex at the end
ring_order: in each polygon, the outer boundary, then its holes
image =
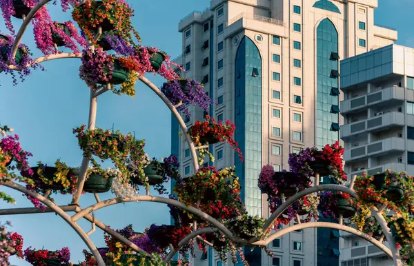
POLYGON ((44 260, 55 259, 61 264, 68 264, 70 260, 70 251, 68 247, 63 247, 61 250, 49 251, 47 249, 34 249, 28 247, 24 251, 26 261, 34 266, 47 266, 44 260))

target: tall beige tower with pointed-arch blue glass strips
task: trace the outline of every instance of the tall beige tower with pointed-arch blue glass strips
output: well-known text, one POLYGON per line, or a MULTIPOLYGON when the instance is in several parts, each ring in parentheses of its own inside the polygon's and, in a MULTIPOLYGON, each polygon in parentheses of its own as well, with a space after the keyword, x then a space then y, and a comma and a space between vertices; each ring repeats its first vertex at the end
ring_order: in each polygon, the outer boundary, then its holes
MULTIPOLYGON (((209 115, 234 122, 240 162, 221 143, 210 146, 217 169, 236 165, 249 214, 269 216, 257 187, 262 165, 288 169, 288 154, 339 140, 339 59, 393 43, 397 32, 374 24, 377 0, 211 0, 179 22, 181 76, 204 83, 215 101, 209 115)), ((187 125, 204 118, 199 108, 187 125)), ((172 153, 193 173, 188 147, 172 123, 172 153)), ((209 164, 207 162, 207 164, 209 164)), ((270 245, 275 258, 253 252, 250 265, 339 265, 337 232, 293 232, 270 245), (333 236, 331 236, 333 235, 333 236), (326 236, 317 241, 317 236, 326 236), (319 247, 319 249, 317 249, 319 247)), ((212 252, 195 265, 220 265, 212 252)))

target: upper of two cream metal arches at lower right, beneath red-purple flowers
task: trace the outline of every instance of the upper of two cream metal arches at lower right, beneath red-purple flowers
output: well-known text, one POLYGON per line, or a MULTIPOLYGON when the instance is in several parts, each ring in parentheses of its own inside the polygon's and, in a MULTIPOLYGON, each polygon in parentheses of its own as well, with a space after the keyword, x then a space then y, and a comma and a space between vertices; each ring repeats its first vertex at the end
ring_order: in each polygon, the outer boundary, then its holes
POLYGON ((354 190, 351 190, 349 187, 345 187, 344 185, 334 185, 334 184, 328 184, 328 185, 316 185, 315 187, 309 187, 306 190, 302 190, 301 192, 291 196, 288 198, 288 200, 285 203, 282 203, 275 212, 268 218, 268 221, 266 221, 263 229, 266 231, 270 228, 270 226, 273 224, 273 222, 277 219, 277 217, 282 214, 290 205, 295 203, 295 201, 299 200, 300 198, 303 198, 304 196, 307 196, 308 194, 312 194, 315 192, 321 192, 326 190, 334 190, 334 191, 340 191, 349 194, 350 196, 353 196, 354 198, 357 198, 357 194, 354 190))

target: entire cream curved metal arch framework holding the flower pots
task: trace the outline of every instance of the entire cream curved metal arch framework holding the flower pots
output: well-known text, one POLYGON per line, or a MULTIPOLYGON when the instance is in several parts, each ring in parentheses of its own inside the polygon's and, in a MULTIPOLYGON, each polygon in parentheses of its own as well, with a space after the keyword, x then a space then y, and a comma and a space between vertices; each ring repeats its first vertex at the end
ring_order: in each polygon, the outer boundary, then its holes
MULTIPOLYGON (((46 5, 46 3, 50 2, 50 1, 51 0, 41 0, 41 1, 39 1, 39 3, 37 3, 37 5, 34 6, 34 8, 32 8, 30 13, 26 17, 26 19, 23 20, 23 23, 22 23, 22 25, 19 29, 18 34, 17 34, 17 37, 14 40, 14 43, 12 45, 12 55, 13 56, 17 52, 17 48, 19 46, 19 43, 21 42, 21 38, 23 37, 23 34, 26 31, 26 29, 28 27, 28 24, 30 23, 31 19, 34 17, 34 15, 43 6, 46 5)), ((71 4, 73 6, 73 3, 71 3, 71 4)), ((47 56, 44 56, 44 57, 39 57, 38 59, 35 59, 34 62, 35 63, 42 63, 42 62, 55 60, 55 59, 68 59, 68 58, 77 58, 77 59, 79 59, 79 58, 81 58, 81 54, 76 54, 76 53, 71 53, 71 52, 63 52, 63 53, 60 53, 60 54, 50 54, 50 55, 47 55, 47 56)), ((19 71, 18 68, 14 68, 12 66, 10 66, 10 69, 19 71)), ((186 127, 186 124, 184 123, 184 120, 182 119, 179 112, 177 111, 176 106, 172 105, 172 103, 166 98, 166 96, 161 92, 161 90, 159 90, 159 88, 157 88, 157 86, 155 86, 153 83, 151 83, 144 76, 140 76, 139 80, 142 83, 144 83, 145 85, 147 85, 148 88, 150 88, 153 92, 155 92, 155 94, 157 94, 159 96, 159 98, 162 101, 164 101, 164 103, 166 103, 166 105, 168 106, 168 108, 170 109, 172 114, 174 114, 175 118, 177 119, 177 121, 179 123, 179 126, 181 127, 182 134, 184 134, 184 137, 185 137, 186 141, 188 142, 188 145, 189 145, 189 148, 190 148, 190 154, 191 154, 191 157, 193 159, 193 167, 194 167, 195 172, 197 172, 198 169, 199 169, 199 165, 198 165, 198 162, 197 162, 197 151, 196 151, 196 148, 194 146, 193 141, 191 140, 190 136, 188 135, 188 129, 186 127)), ((95 120, 96 120, 96 114, 97 114, 97 97, 100 94, 103 94, 106 91, 108 91, 108 88, 102 89, 99 92, 94 92, 94 91, 90 90, 90 110, 89 110, 89 121, 88 121, 88 129, 90 129, 90 130, 95 129, 95 120)), ((75 230, 75 232, 77 232, 77 234, 79 234, 79 236, 83 239, 83 241, 86 243, 86 245, 88 245, 88 247, 91 250, 92 254, 97 259, 97 262, 98 262, 99 266, 105 266, 105 264, 103 263, 103 259, 102 259, 101 255, 99 254, 99 252, 97 251, 97 248, 95 247, 95 245, 90 240, 90 238, 88 236, 89 232, 88 233, 83 232, 83 229, 81 229, 81 227, 79 227, 79 225, 77 225, 77 221, 79 220, 79 218, 85 218, 86 220, 90 221, 90 223, 92 223, 92 227, 97 225, 98 227, 103 229, 105 232, 107 232, 108 234, 110 234, 110 235, 114 236, 115 238, 119 239, 119 241, 121 241, 122 243, 124 243, 125 245, 130 247, 131 249, 135 250, 136 252, 142 252, 146 255, 149 255, 146 252, 144 252, 142 249, 137 247, 137 245, 131 243, 130 241, 128 241, 128 239, 124 238, 124 236, 121 236, 120 234, 115 232, 115 230, 110 229, 110 227, 108 227, 107 225, 101 223, 100 221, 95 219, 95 217, 90 216, 90 212, 94 212, 97 209, 101 209, 103 207, 108 207, 110 205, 115 205, 117 203, 126 203, 126 202, 132 202, 132 201, 148 201, 148 202, 152 201, 152 202, 157 202, 157 203, 170 204, 170 205, 174 205, 175 207, 185 209, 186 211, 191 212, 191 213, 199 216, 200 218, 203 218, 205 221, 208 221, 211 225, 217 227, 217 229, 219 229, 220 232, 225 234, 230 239, 230 241, 238 243, 239 245, 268 245, 268 243, 270 243, 270 241, 272 241, 273 239, 275 239, 279 236, 282 236, 284 234, 288 234, 289 232, 293 232, 294 230, 297 230, 297 229, 305 229, 305 228, 311 228, 311 227, 328 227, 328 228, 339 229, 339 230, 342 230, 344 232, 349 232, 351 234, 355 234, 356 236, 360 236, 360 237, 366 239, 367 241, 373 243, 373 245, 379 247, 385 254, 387 254, 388 256, 393 257, 396 266, 402 266, 402 262, 401 262, 401 259, 400 259, 400 254, 398 253, 398 250, 395 246, 395 240, 393 239, 393 236, 391 235, 390 230, 386 225, 384 217, 381 214, 384 208, 381 208, 381 209, 373 208, 372 212, 373 212, 373 216, 375 216, 377 221, 380 223, 380 225, 382 227, 382 230, 383 230, 388 242, 391 245, 391 250, 388 249, 387 247, 385 247, 384 245, 382 245, 382 243, 380 243, 380 241, 376 241, 374 238, 371 238, 367 234, 364 234, 364 232, 359 232, 357 229, 342 225, 341 221, 340 221, 339 224, 335 224, 335 223, 300 223, 300 224, 297 224, 297 225, 293 225, 291 227, 286 227, 285 229, 282 229, 282 230, 276 232, 275 234, 272 234, 272 235, 268 236, 268 238, 266 238, 266 239, 260 240, 260 239, 257 239, 257 238, 251 238, 249 240, 246 240, 246 239, 242 239, 242 238, 238 238, 238 237, 234 236, 233 233, 230 232, 230 230, 228 228, 226 228, 224 225, 219 223, 219 221, 215 220, 214 218, 212 218, 208 214, 206 214, 204 212, 201 212, 200 209, 197 209, 197 208, 191 207, 191 206, 187 206, 184 203, 172 200, 170 198, 162 198, 162 197, 149 196, 149 195, 147 195, 147 196, 135 196, 135 197, 124 197, 124 198, 112 198, 112 199, 107 200, 107 201, 99 201, 99 198, 97 198, 98 202, 96 204, 90 205, 89 207, 86 207, 85 209, 81 209, 77 203, 79 202, 79 198, 81 197, 81 191, 83 189, 83 183, 84 183, 85 178, 86 178, 86 169, 88 167, 88 163, 89 163, 88 159, 83 158, 82 165, 81 165, 81 174, 79 176, 79 182, 78 182, 78 187, 77 187, 77 194, 74 195, 74 197, 72 199, 72 205, 69 205, 69 206, 59 207, 55 203, 52 203, 51 201, 49 201, 46 195, 43 196, 41 194, 31 192, 30 190, 27 190, 25 187, 23 187, 21 185, 18 185, 17 183, 10 182, 10 183, 3 183, 3 184, 0 184, 0 185, 5 185, 5 186, 10 187, 14 190, 17 190, 19 192, 23 192, 24 194, 30 195, 33 198, 37 198, 41 203, 48 206, 49 212, 55 212, 56 214, 61 216, 61 218, 63 218, 63 220, 66 221, 66 223, 68 223, 75 230), (75 210, 75 212, 77 212, 77 214, 75 214, 74 216, 70 217, 68 214, 66 214, 66 211, 73 211, 73 210, 75 210)), ((315 193, 315 192, 321 192, 321 191, 325 191, 325 190, 340 191, 340 192, 350 194, 351 196, 357 198, 357 195, 355 194, 355 191, 352 189, 352 185, 351 185, 351 187, 345 187, 343 185, 316 185, 315 187, 310 187, 307 190, 299 192, 299 193, 295 194, 294 196, 288 198, 288 200, 285 203, 283 203, 282 205, 280 205, 277 208, 277 210, 270 216, 270 218, 268 218, 268 221, 266 221, 266 224, 264 225, 263 229, 266 230, 266 229, 270 228, 271 225, 273 224, 273 222, 275 221, 275 219, 277 219, 277 217, 279 217, 279 215, 282 214, 282 212, 284 212, 284 210, 288 206, 295 203, 295 201, 297 201, 299 198, 302 198, 303 196, 306 196, 308 194, 312 194, 312 193, 315 193)), ((4 209, 4 210, 0 211, 0 215, 37 213, 37 209, 35 209, 35 208, 23 208, 23 209, 21 209, 20 211, 17 211, 16 209, 14 209, 14 210, 4 209)), ((94 229, 92 229, 91 232, 92 231, 94 231, 94 229)), ((193 233, 189 234, 188 236, 186 236, 185 238, 183 238, 179 242, 179 247, 182 247, 183 245, 188 243, 188 241, 191 241, 193 238, 199 237, 200 234, 211 233, 211 232, 213 232, 212 227, 205 227, 205 228, 201 228, 201 229, 198 229, 198 230, 196 229, 193 233)), ((210 243, 208 243, 208 244, 210 244, 210 243)), ((177 250, 172 249, 170 251, 170 253, 168 254, 168 256, 166 257, 166 262, 169 262, 172 259, 172 257, 177 253, 177 251, 178 251, 178 249, 177 250)))

